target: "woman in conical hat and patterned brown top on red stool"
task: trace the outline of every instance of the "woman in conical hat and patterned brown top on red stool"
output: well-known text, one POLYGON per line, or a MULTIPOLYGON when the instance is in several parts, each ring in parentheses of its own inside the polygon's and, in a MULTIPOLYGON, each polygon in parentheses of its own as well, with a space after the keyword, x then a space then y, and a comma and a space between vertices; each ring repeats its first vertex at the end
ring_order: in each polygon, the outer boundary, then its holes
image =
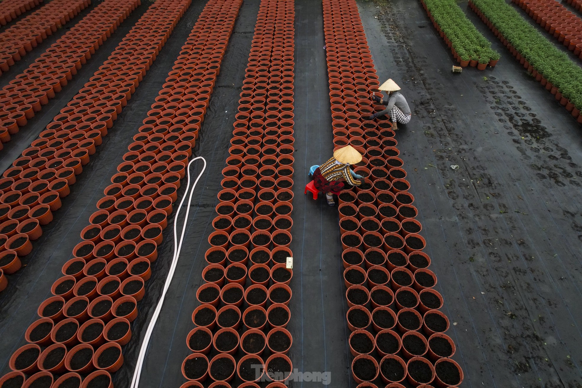
POLYGON ((360 175, 350 169, 350 164, 360 163, 361 154, 352 146, 345 146, 333 152, 333 157, 324 164, 314 165, 310 169, 313 175, 315 188, 325 193, 329 206, 335 206, 333 195, 338 195, 345 186, 344 182, 352 186, 362 184, 360 175))

